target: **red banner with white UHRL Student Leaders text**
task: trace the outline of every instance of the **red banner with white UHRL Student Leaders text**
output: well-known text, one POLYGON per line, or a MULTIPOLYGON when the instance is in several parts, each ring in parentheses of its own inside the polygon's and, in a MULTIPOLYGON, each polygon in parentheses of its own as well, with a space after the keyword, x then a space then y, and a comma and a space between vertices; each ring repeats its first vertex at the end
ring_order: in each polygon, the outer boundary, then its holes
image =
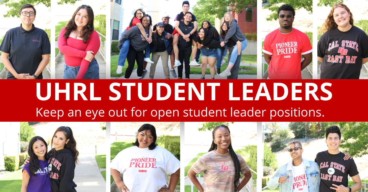
POLYGON ((367 121, 361 112, 365 84, 368 81, 1 80, 0 121, 367 121))

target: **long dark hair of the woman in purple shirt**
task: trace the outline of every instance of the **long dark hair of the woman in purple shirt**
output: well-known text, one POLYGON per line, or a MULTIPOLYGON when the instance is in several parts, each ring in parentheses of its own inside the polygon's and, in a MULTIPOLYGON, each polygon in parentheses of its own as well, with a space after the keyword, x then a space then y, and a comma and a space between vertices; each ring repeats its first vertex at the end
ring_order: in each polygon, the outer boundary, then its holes
POLYGON ((38 157, 37 157, 37 155, 33 151, 33 144, 36 141, 38 141, 38 140, 41 140, 43 142, 43 144, 46 145, 46 151, 44 152, 45 153, 45 159, 46 160, 49 159, 49 154, 47 154, 47 143, 46 143, 46 141, 42 137, 40 137, 40 136, 33 137, 31 139, 31 141, 29 141, 29 144, 28 144, 28 155, 29 155, 29 166, 28 166, 28 169, 29 169, 29 173, 31 173, 31 175, 33 175, 35 177, 37 176, 36 175, 36 172, 39 169, 43 169, 42 167, 40 167, 40 164, 38 162, 38 157))

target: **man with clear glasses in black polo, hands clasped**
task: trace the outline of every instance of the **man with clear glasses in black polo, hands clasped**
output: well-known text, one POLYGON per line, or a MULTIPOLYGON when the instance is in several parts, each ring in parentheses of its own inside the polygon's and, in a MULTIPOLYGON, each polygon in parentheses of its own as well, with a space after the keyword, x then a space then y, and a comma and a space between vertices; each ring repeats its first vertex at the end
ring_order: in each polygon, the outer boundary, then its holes
POLYGON ((33 25, 36 10, 32 5, 22 6, 19 16, 21 25, 10 29, 0 45, 1 62, 9 70, 7 79, 43 79, 42 71, 50 61, 49 37, 33 25))

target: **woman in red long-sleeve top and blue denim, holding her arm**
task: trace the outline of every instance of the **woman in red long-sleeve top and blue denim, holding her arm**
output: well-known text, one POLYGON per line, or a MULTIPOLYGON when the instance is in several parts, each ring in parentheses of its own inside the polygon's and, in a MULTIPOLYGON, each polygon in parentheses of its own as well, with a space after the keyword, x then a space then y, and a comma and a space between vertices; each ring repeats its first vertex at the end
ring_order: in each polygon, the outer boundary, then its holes
POLYGON ((57 46, 64 54, 63 79, 100 79, 94 58, 100 48, 98 33, 93 30, 93 10, 82 5, 61 29, 57 46))

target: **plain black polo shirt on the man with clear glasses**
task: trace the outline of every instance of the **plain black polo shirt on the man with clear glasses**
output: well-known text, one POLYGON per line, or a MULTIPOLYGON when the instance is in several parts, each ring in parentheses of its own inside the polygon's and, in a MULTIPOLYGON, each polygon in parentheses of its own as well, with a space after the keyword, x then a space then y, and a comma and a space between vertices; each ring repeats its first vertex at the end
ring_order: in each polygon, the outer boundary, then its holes
MULTIPOLYGON (((0 51, 9 54, 10 63, 18 74, 33 75, 42 61, 42 55, 51 53, 51 45, 44 30, 32 24, 32 29, 26 31, 21 24, 6 32, 0 45, 0 51)), ((41 72, 38 79, 42 78, 41 72)), ((8 72, 7 79, 15 79, 15 77, 8 72)))

